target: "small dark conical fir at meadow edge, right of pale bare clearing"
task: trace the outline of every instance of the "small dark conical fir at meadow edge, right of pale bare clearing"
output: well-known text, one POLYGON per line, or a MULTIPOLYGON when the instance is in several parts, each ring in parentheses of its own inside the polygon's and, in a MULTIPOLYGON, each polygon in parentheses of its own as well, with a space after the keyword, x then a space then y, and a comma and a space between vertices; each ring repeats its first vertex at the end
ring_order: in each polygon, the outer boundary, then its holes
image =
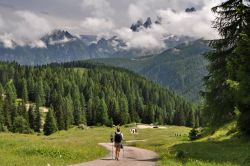
POLYGON ((58 129, 57 129, 53 109, 49 109, 49 112, 46 115, 45 123, 43 126, 44 135, 50 135, 56 132, 57 130, 58 129))

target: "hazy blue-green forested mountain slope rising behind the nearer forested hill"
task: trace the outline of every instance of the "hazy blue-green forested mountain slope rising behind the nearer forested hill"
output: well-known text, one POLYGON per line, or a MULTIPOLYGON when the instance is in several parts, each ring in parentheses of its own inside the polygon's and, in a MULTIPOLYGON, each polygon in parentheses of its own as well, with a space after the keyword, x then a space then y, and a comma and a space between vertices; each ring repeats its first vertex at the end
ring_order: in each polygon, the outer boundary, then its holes
POLYGON ((196 40, 168 49, 159 55, 94 61, 133 70, 184 95, 191 101, 198 101, 202 78, 206 74, 206 60, 203 53, 209 50, 206 41, 196 40))

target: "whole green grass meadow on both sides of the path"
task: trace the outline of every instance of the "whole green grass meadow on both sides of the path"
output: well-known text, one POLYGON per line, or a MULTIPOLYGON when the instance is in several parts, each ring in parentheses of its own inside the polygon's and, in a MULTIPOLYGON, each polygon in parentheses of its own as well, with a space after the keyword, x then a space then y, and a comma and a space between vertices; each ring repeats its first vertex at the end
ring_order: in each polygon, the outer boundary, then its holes
MULTIPOLYGON (((229 124, 213 136, 194 142, 188 141, 187 127, 140 129, 137 135, 130 134, 130 128, 123 127, 122 131, 125 140, 145 140, 130 145, 156 151, 161 157, 159 165, 249 165, 250 142, 229 134, 233 127, 229 124), (182 158, 176 157, 180 152, 182 158)), ((0 165, 54 166, 97 159, 107 154, 97 143, 109 142, 113 130, 73 128, 49 137, 0 133, 0 165)))

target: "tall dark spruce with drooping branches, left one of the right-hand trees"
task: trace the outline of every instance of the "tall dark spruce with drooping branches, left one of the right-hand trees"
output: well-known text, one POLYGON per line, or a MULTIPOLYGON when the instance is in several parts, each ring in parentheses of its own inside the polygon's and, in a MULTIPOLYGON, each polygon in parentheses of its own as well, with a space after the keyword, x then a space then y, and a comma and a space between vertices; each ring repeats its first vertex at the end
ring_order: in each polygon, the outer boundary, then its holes
MULTIPOLYGON (((214 28, 218 29, 221 39, 213 40, 211 46, 215 51, 206 55, 210 61, 209 74, 205 77, 206 91, 203 93, 206 99, 204 109, 207 122, 210 125, 221 125, 232 118, 236 101, 227 81, 235 78, 233 70, 228 66, 232 63, 235 54, 236 43, 240 33, 246 28, 245 10, 242 0, 228 0, 215 6, 213 12, 217 14, 214 28)), ((235 68, 235 67, 233 67, 235 68)))

